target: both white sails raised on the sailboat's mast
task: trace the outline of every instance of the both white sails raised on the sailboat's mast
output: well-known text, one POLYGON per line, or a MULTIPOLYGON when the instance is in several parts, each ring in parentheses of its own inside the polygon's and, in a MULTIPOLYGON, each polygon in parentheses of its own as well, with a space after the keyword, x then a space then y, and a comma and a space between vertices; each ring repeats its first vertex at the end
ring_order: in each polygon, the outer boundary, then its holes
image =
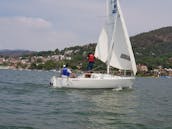
POLYGON ((137 72, 134 54, 118 0, 107 0, 107 20, 99 36, 95 57, 122 70, 137 72))

